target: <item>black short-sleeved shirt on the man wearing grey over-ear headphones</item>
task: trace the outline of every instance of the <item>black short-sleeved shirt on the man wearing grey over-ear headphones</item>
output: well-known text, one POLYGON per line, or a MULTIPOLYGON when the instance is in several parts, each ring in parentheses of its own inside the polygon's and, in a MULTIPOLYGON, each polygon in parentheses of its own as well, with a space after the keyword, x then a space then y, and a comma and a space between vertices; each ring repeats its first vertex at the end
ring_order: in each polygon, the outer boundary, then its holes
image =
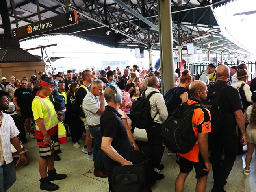
MULTIPOLYGON (((126 128, 122 122, 121 115, 113 107, 106 106, 100 116, 100 129, 102 137, 113 138, 111 146, 124 159, 130 161, 130 141, 126 128)), ((106 170, 111 171, 114 166, 120 165, 103 153, 103 163, 106 170)))

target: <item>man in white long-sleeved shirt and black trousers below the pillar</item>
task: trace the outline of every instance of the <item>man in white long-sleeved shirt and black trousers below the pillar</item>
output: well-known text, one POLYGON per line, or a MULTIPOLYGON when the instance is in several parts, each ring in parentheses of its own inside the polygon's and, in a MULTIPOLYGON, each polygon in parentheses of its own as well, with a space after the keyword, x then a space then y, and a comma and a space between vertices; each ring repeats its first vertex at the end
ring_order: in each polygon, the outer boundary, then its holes
MULTIPOLYGON (((163 122, 168 117, 168 111, 163 99, 163 95, 160 94, 159 90, 159 79, 156 76, 150 76, 148 78, 148 89, 145 91, 145 97, 147 97, 151 92, 156 91, 158 93, 153 94, 150 99, 150 114, 153 122, 150 127, 147 127, 147 137, 150 148, 153 151, 153 163, 154 167, 161 170, 164 168, 163 164, 160 164, 164 146, 162 145, 162 137, 160 135, 163 122)), ((142 94, 143 96, 143 94, 142 94)), ((164 178, 163 174, 158 174, 155 172, 156 180, 164 178)))

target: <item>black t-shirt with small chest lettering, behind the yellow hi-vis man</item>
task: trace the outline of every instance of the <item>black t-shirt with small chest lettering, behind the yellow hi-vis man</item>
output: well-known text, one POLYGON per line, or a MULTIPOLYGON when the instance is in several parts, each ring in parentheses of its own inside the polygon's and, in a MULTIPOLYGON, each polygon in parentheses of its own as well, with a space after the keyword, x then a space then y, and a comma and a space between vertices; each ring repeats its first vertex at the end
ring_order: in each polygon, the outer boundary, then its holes
POLYGON ((31 108, 32 89, 20 87, 14 92, 14 97, 17 97, 17 103, 21 109, 31 108))

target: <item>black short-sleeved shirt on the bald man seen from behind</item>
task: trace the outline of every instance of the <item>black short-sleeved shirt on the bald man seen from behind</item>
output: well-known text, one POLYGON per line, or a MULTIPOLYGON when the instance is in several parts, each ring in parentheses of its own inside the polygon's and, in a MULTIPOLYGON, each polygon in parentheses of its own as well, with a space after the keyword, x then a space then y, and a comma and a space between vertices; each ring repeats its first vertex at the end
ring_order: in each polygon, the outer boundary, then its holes
POLYGON ((221 89, 221 87, 227 86, 221 95, 221 103, 223 107, 223 114, 224 114, 224 119, 225 125, 235 125, 236 124, 236 119, 235 119, 235 114, 234 111, 237 111, 239 109, 243 108, 242 102, 241 102, 241 97, 238 92, 238 90, 230 85, 228 85, 228 82, 226 81, 220 81, 217 80, 215 83, 210 85, 208 87, 208 91, 210 89, 217 89, 218 87, 221 89))

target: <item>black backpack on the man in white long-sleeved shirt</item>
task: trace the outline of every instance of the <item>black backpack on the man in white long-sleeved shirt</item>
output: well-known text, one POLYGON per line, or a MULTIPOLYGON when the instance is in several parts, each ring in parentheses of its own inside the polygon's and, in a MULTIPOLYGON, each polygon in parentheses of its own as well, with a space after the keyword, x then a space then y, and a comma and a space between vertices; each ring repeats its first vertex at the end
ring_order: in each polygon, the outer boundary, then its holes
POLYGON ((150 113, 150 97, 155 94, 159 93, 157 91, 152 91, 150 94, 148 94, 147 97, 145 97, 145 91, 142 93, 141 97, 137 98, 137 100, 132 103, 132 110, 131 110, 131 119, 132 119, 132 126, 137 127, 139 129, 147 129, 147 127, 150 126, 150 124, 153 122, 153 120, 156 118, 156 115, 154 118, 151 118, 150 113))

